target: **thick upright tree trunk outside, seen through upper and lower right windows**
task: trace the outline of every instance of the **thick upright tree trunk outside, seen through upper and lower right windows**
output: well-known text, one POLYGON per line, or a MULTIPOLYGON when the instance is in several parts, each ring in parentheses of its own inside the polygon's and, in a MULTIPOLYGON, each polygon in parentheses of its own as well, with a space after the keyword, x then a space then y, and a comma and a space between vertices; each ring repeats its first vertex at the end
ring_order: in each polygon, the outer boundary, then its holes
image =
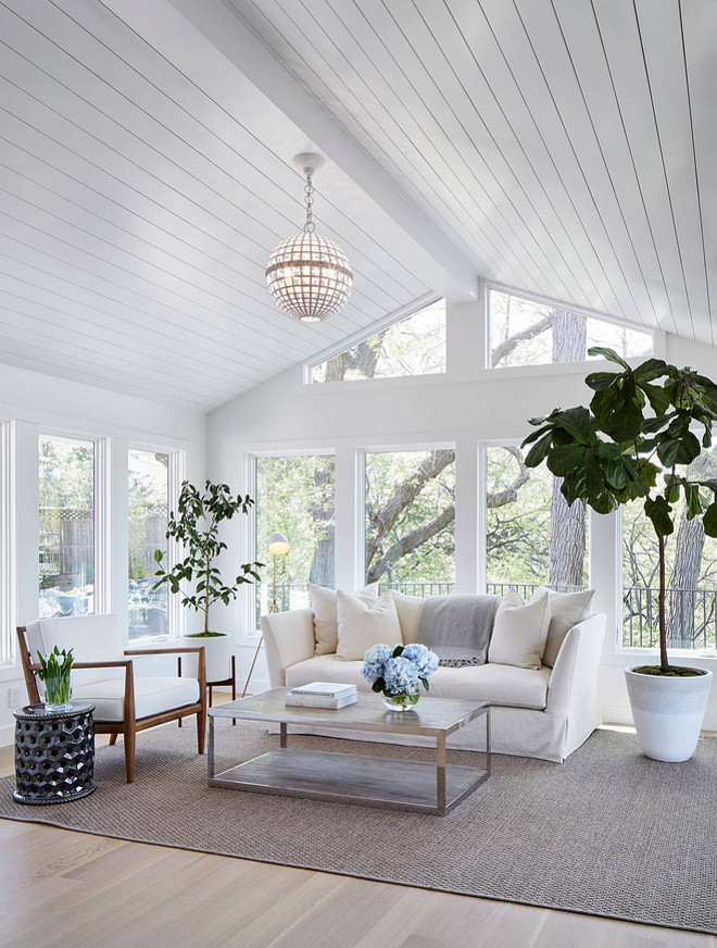
MULTIPOLYGON (((586 317, 568 310, 553 310, 552 319, 553 362, 584 360, 588 338, 586 317)), ((586 508, 579 501, 568 507, 561 494, 562 483, 562 478, 553 478, 548 582, 551 586, 582 586, 586 508)))

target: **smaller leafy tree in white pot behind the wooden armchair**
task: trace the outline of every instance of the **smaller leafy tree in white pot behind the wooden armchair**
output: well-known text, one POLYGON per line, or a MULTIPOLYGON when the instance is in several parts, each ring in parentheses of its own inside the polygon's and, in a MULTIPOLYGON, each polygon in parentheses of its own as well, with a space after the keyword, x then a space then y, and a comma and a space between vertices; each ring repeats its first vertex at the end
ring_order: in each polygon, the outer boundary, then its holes
POLYGON ((200 644, 205 648, 207 682, 228 678, 232 650, 230 635, 210 631, 210 607, 215 602, 227 606, 230 599, 236 599, 241 585, 260 578, 256 570, 263 565, 242 563, 234 582, 225 583, 215 562, 222 550, 227 548, 219 539, 219 524, 231 520, 236 513, 248 513, 253 502, 249 495, 232 497, 226 484, 206 481, 204 494, 200 494, 188 481, 183 482, 177 512, 169 516, 166 536, 184 548, 185 558, 171 570, 165 570, 162 566, 164 553, 162 550, 154 552, 158 563, 154 575, 159 579, 152 588, 159 589, 167 584, 172 592, 181 596, 183 606, 204 615, 203 632, 188 635, 187 638, 201 639, 200 644))

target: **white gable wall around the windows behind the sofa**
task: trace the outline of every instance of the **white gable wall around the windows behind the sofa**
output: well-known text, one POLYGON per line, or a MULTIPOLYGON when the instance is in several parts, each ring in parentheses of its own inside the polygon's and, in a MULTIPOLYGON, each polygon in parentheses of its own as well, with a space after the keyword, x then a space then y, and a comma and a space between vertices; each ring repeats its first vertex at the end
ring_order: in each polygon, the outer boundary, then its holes
MULTIPOLYGON (((449 371, 445 376, 417 379, 304 385, 295 367, 236 399, 210 415, 209 470, 215 479, 243 490, 246 456, 252 451, 322 449, 337 451, 337 585, 361 584, 355 551, 355 523, 351 491, 341 489, 341 472, 355 470, 357 448, 420 446, 446 441, 456 446, 460 472, 456 497, 456 585, 463 591, 478 586, 477 521, 479 451, 481 441, 521 439, 528 417, 586 403, 583 365, 534 366, 527 370, 482 370, 485 329, 481 303, 449 307, 449 371)), ((307 329, 311 332, 311 329, 307 329)), ((717 349, 658 336, 656 354, 679 365, 692 365, 717 377, 717 349)), ((594 371, 593 363, 590 371, 594 371)), ((617 647, 619 608, 616 579, 621 571, 616 517, 591 517, 591 584, 596 607, 608 616, 608 631, 600 670, 600 693, 605 720, 630 723, 622 669, 640 661, 640 653, 617 647)), ((241 547, 238 532, 227 537, 240 561, 253 559, 241 547)), ((240 607, 229 621, 242 628, 238 638, 240 666, 246 673, 257 644, 247 628, 240 607)), ((681 661, 681 659, 680 659, 681 661)), ((690 663, 691 659, 684 663, 690 663)), ((700 658, 717 668, 715 659, 700 658)), ((254 686, 267 685, 263 662, 254 686)), ((717 689, 713 691, 705 726, 717 729, 717 689)))

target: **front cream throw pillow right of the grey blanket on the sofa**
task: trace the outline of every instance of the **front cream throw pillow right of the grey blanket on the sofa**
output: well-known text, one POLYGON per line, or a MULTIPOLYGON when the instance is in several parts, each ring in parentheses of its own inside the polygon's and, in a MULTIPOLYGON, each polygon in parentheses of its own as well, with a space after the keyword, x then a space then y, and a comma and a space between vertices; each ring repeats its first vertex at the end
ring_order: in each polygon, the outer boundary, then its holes
POLYGON ((501 599, 488 648, 488 661, 518 669, 539 669, 550 625, 548 589, 526 604, 515 589, 501 599))

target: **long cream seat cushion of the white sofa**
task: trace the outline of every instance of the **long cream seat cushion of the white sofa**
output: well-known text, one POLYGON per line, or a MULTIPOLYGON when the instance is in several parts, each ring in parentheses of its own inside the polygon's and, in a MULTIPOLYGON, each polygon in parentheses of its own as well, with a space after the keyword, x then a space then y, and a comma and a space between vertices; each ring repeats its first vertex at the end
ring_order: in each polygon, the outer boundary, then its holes
MULTIPOLYGON (((363 662, 347 662, 337 656, 318 656, 287 669, 287 687, 295 688, 310 682, 336 682, 355 685, 360 691, 369 691, 370 685, 361 674, 362 666, 363 662)), ((429 694, 435 698, 490 701, 491 704, 507 708, 543 711, 548 702, 550 675, 550 669, 534 671, 511 665, 439 669, 430 676, 429 694)), ((377 707, 380 707, 378 696, 376 701, 377 707)))

